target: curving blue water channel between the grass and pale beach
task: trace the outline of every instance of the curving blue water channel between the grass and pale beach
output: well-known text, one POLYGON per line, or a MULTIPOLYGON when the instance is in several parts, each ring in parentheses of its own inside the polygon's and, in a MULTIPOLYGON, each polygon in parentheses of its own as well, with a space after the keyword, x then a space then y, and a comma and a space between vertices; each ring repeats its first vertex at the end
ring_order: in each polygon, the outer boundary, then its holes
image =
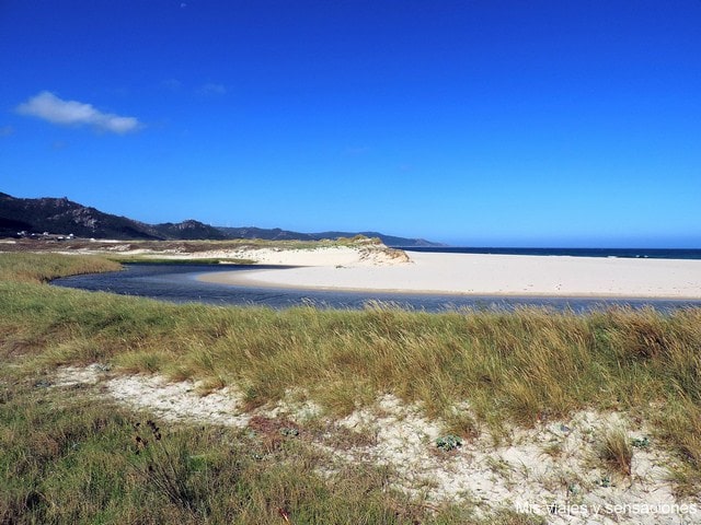
POLYGON ((404 294, 387 292, 335 292, 218 284, 197 280, 208 272, 244 271, 279 268, 271 266, 214 265, 125 265, 122 271, 91 273, 56 279, 51 284, 82 290, 138 295, 175 303, 218 305, 257 305, 273 308, 313 305, 321 308, 360 310, 372 302, 389 303, 407 310, 445 312, 459 308, 514 310, 521 306, 548 307, 556 311, 588 312, 613 305, 640 308, 653 306, 663 312, 701 307, 701 300, 641 300, 582 298, 519 298, 440 294, 404 294))

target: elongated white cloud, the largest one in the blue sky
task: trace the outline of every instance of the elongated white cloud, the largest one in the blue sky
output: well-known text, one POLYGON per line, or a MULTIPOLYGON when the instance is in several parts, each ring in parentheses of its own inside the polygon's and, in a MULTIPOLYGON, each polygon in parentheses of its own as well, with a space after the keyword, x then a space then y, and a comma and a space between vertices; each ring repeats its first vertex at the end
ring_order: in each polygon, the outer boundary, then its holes
POLYGON ((16 108, 21 115, 43 118, 51 124, 64 126, 92 126, 101 131, 127 133, 141 127, 135 117, 120 117, 112 113, 102 113, 91 104, 77 101, 64 101, 54 93, 43 91, 16 108))

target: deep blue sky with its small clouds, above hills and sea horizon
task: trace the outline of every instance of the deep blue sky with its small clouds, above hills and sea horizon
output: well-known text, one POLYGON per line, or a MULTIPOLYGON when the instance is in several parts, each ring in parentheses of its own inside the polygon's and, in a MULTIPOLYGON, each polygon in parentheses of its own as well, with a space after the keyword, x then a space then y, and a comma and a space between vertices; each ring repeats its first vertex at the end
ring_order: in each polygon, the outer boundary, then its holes
POLYGON ((701 1, 0 0, 0 191, 701 247, 701 1))

